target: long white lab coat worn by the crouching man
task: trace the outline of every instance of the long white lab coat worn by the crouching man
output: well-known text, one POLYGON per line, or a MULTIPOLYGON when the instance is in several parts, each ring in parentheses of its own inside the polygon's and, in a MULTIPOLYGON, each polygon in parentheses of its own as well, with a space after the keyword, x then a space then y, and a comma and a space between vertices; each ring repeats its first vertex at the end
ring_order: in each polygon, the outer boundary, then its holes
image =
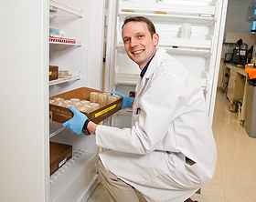
POLYGON ((98 126, 96 144, 109 149, 100 154, 104 167, 148 201, 184 201, 215 172, 217 149, 203 91, 164 48, 136 86, 132 127, 98 126), (196 164, 188 165, 186 157, 196 164))

